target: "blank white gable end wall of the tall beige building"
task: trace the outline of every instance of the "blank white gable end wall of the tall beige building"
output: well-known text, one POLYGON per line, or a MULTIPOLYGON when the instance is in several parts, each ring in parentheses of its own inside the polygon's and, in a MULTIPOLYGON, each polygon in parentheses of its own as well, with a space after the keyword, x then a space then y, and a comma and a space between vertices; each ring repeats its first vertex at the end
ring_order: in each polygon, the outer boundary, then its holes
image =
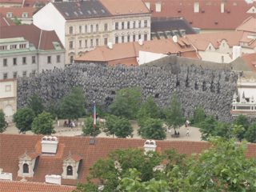
POLYGON ((55 30, 62 45, 65 46, 66 20, 51 2, 33 15, 33 21, 41 30, 55 30))

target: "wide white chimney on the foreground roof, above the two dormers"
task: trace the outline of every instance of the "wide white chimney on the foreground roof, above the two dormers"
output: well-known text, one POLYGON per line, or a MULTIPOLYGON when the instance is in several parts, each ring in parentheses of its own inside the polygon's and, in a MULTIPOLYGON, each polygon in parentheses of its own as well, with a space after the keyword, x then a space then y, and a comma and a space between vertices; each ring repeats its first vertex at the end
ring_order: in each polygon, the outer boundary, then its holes
POLYGON ((42 138, 42 154, 56 154, 58 149, 58 138, 56 137, 47 137, 42 138))

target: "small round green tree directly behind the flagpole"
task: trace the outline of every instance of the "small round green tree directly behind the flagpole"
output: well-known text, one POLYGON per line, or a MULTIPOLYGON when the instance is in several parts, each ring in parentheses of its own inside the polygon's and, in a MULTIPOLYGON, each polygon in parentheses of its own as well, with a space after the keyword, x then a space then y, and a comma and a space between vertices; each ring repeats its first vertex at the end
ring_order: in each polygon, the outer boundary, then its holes
MULTIPOLYGON (((85 125, 82 126, 82 132, 85 136, 94 136, 94 118, 86 118, 84 121, 85 125)), ((100 130, 101 126, 98 121, 96 121, 96 126, 95 126, 95 137, 97 137, 98 134, 101 133, 100 130)))

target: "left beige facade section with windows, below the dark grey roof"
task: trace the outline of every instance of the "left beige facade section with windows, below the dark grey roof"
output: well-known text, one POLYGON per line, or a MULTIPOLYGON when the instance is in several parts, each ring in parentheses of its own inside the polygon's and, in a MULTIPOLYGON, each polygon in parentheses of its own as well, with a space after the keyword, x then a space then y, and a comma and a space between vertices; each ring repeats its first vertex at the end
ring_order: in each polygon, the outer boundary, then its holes
POLYGON ((98 39, 98 46, 104 46, 104 39, 107 38, 107 42, 112 42, 111 39, 111 18, 90 18, 66 21, 65 26, 65 48, 66 48, 66 64, 70 63, 70 57, 78 58, 86 51, 94 50, 96 45, 96 39, 98 39), (104 29, 104 25, 107 24, 107 30, 104 29), (93 32, 90 30, 90 26, 93 25, 93 32), (98 25, 98 31, 96 29, 98 25), (73 34, 70 34, 70 26, 73 27, 73 34), (82 26, 82 33, 80 33, 79 26, 82 26), (87 26, 87 31, 85 31, 87 26), (85 45, 87 40, 87 46, 85 45), (90 46, 90 41, 93 41, 93 46, 90 46), (82 45, 79 45, 79 41, 82 41, 82 45), (73 48, 70 48, 70 42, 73 42, 73 48))

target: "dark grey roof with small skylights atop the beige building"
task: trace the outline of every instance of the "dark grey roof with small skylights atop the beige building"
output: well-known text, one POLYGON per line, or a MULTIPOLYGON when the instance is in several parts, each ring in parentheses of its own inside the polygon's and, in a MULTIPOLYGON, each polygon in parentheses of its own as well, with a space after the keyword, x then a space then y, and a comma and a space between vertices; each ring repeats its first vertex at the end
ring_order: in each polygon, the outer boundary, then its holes
POLYGON ((67 20, 111 16, 99 1, 53 2, 53 4, 67 20))

